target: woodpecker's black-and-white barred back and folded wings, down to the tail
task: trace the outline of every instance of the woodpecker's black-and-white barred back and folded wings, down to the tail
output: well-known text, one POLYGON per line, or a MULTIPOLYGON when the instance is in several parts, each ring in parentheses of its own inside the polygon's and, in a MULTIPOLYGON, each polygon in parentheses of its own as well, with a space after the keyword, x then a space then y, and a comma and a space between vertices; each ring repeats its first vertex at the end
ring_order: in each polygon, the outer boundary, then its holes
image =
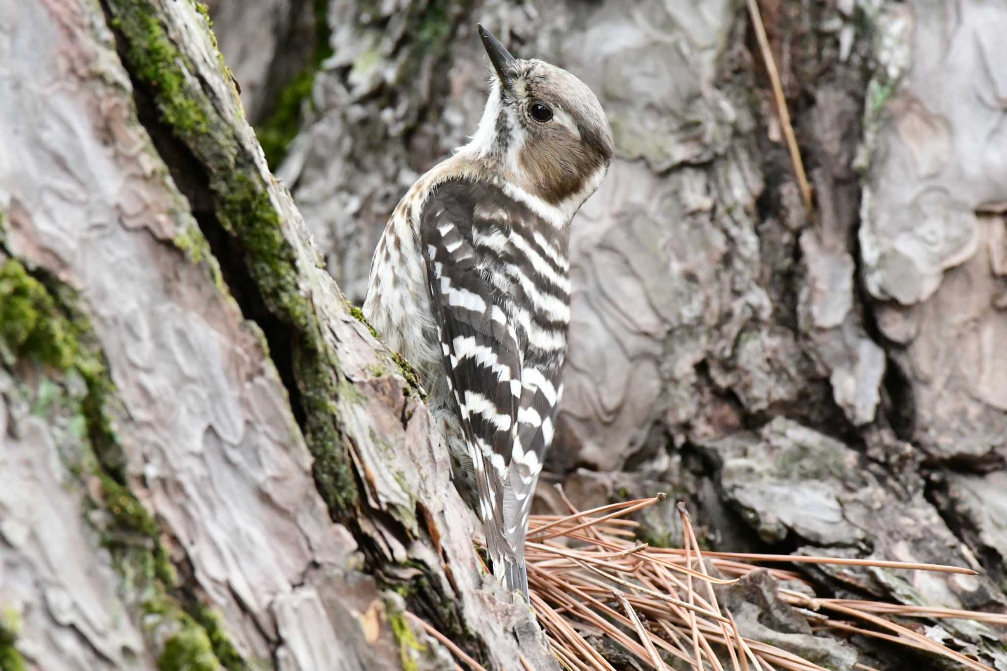
MULTIPOLYGON (((553 440, 570 320, 565 237, 486 184, 448 182, 423 208, 421 243, 448 385, 475 467, 490 556, 527 592, 532 494, 553 440), (495 549, 494 549, 495 545, 495 549)), ((494 566, 495 570, 495 566, 494 566)))

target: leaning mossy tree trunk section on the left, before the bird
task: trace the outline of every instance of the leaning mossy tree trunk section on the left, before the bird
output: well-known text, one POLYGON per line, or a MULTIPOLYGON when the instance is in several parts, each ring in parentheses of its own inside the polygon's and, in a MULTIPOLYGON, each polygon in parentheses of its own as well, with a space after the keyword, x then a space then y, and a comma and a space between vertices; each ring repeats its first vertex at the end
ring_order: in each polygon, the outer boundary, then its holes
POLYGON ((555 668, 207 28, 0 3, 4 668, 555 668))

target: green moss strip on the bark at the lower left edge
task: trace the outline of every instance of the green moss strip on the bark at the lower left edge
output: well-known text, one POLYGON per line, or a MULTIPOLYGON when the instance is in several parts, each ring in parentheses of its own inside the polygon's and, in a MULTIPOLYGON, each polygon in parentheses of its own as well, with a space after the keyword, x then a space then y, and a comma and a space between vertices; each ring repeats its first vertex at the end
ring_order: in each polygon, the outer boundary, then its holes
MULTIPOLYGON (((127 602, 145 614, 148 628, 172 632, 159 657, 165 671, 176 669, 246 669, 208 611, 192 608, 178 597, 177 572, 160 539, 160 526, 127 485, 125 457, 107 412, 115 387, 102 360, 101 349, 76 293, 42 273, 29 272, 20 262, 0 265, 0 351, 3 363, 33 361, 45 367, 32 400, 32 411, 45 416, 58 408, 68 416, 76 446, 60 446, 67 468, 82 477, 94 476, 101 485, 87 515, 123 578, 127 602), (70 382, 73 378, 78 381, 70 382), (83 382, 83 383, 82 383, 83 382), (73 457, 65 457, 73 452, 73 457), (97 520, 97 521, 96 521, 97 520), (156 616, 151 618, 150 616, 156 616), (205 644, 205 645, 203 645, 205 644), (222 665, 222 662, 225 662, 222 665)), ((0 623, 0 671, 19 669, 13 647, 16 628, 9 618, 0 623)))

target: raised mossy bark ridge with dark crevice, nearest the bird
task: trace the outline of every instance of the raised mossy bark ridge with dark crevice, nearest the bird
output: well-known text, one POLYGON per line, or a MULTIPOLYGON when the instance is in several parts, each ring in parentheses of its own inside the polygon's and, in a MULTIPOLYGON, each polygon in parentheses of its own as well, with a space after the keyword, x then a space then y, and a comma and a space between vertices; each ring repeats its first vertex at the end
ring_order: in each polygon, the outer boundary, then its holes
MULTIPOLYGON (((145 108, 141 122, 158 151, 179 161, 177 185, 199 226, 193 237, 205 240, 204 256, 219 264, 222 288, 264 334, 264 350, 289 400, 300 405, 295 416, 314 457, 317 489, 332 519, 355 539, 366 559, 363 570, 377 578, 379 589, 406 597, 414 612, 428 616, 476 658, 513 655, 513 641, 487 652, 480 640, 485 632, 471 623, 484 618, 489 605, 476 603, 473 595, 450 594, 440 566, 447 559, 429 548, 429 539, 443 533, 417 518, 416 492, 429 488, 430 474, 417 473, 415 465, 405 470, 397 460, 423 451, 426 442, 436 440, 436 429, 426 413, 415 412, 419 400, 413 388, 394 373, 399 362, 373 342, 364 343, 370 356, 359 346, 351 349, 349 341, 363 327, 320 271, 289 196, 262 170, 250 129, 233 125, 233 111, 221 107, 226 101, 219 82, 193 79, 189 60, 198 45, 173 41, 176 28, 143 3, 105 0, 104 7, 135 90, 144 92, 135 97, 145 108), (392 415, 394 427, 376 430, 392 415), (401 452, 388 440, 398 441, 401 452), (459 600, 476 615, 462 617, 459 600)), ((424 454, 419 468, 433 468, 430 459, 424 454)), ((437 508, 443 505, 438 502, 437 508)), ((437 523, 445 522, 441 517, 437 523)), ((450 544, 452 552, 471 552, 470 545, 464 548, 467 536, 450 544)))

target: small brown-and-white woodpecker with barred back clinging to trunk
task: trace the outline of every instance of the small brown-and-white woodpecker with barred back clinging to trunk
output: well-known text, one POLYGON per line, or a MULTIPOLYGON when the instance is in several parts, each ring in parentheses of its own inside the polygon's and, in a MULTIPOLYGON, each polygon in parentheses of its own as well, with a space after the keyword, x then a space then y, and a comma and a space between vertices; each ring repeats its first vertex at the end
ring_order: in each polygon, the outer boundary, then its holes
POLYGON ((570 222, 613 144, 586 85, 478 31, 492 65, 478 129, 395 208, 364 313, 419 371, 493 574, 527 599, 528 516, 563 395, 570 222))

